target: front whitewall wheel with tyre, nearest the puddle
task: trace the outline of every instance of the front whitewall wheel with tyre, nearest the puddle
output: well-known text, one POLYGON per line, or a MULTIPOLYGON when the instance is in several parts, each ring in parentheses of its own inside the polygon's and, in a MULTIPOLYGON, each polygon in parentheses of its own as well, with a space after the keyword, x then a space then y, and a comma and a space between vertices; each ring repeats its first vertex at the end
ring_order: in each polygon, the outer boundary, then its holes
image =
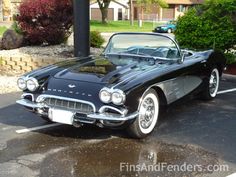
POLYGON ((128 127, 128 133, 134 138, 145 138, 155 128, 159 115, 159 99, 154 89, 144 94, 138 112, 138 117, 128 127))

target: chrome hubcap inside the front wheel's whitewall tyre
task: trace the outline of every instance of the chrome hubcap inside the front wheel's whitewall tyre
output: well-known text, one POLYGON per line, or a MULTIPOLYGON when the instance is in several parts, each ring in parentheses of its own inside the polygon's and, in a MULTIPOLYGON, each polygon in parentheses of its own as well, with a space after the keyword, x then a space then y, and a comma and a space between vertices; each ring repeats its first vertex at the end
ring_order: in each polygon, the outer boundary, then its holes
POLYGON ((152 98, 146 98, 140 109, 140 125, 142 128, 147 129, 152 124, 155 115, 155 105, 152 98))

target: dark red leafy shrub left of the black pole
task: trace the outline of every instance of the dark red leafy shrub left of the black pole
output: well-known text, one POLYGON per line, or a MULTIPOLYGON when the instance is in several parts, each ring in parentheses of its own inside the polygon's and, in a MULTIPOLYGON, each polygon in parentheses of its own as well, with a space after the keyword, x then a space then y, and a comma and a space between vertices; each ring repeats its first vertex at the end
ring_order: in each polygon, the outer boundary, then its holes
POLYGON ((31 45, 60 44, 71 34, 71 0, 25 0, 16 21, 31 45))

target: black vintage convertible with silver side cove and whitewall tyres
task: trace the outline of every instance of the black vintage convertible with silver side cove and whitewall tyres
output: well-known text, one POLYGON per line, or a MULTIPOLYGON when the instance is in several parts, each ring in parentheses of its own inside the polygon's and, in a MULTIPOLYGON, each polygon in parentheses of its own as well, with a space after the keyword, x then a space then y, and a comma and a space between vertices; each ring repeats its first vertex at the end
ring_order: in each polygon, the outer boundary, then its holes
POLYGON ((42 118, 79 127, 150 134, 161 106, 188 94, 217 95, 226 59, 220 52, 181 50, 154 33, 118 33, 100 56, 56 63, 19 78, 17 101, 42 118))

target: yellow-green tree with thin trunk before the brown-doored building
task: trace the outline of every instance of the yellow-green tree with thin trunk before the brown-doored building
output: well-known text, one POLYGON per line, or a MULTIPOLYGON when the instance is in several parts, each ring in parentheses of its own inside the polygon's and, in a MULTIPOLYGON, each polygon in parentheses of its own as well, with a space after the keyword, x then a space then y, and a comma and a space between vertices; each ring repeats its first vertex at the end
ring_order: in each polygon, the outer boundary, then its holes
POLYGON ((153 4, 158 4, 162 8, 168 7, 165 0, 137 0, 137 4, 141 7, 141 19, 143 18, 144 9, 149 10, 153 4))

